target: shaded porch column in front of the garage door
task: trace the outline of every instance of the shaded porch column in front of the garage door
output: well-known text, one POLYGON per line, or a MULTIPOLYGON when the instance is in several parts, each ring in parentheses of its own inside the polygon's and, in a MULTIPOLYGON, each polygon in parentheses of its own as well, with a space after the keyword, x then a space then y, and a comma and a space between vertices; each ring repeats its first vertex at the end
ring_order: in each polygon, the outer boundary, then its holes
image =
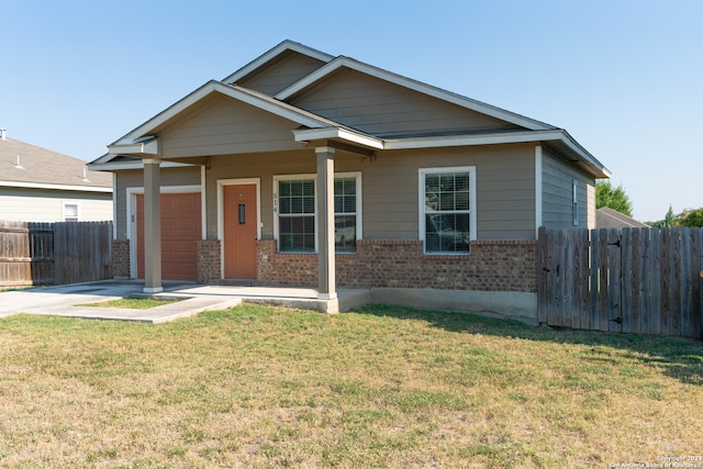
POLYGON ((161 287, 161 168, 159 159, 144 158, 144 293, 161 287))

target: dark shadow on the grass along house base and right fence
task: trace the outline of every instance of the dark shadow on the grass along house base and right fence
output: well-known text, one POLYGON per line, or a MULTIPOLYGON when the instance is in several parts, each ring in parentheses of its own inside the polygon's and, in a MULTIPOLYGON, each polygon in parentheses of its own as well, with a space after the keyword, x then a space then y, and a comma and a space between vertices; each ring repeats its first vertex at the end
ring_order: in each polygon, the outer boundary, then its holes
POLYGON ((599 350, 610 347, 626 351, 628 358, 648 366, 660 367, 666 376, 682 383, 703 386, 703 342, 701 340, 645 334, 536 327, 515 320, 382 304, 370 304, 355 312, 422 321, 432 327, 448 332, 591 346, 591 359, 594 361, 607 361, 606 354, 599 350))

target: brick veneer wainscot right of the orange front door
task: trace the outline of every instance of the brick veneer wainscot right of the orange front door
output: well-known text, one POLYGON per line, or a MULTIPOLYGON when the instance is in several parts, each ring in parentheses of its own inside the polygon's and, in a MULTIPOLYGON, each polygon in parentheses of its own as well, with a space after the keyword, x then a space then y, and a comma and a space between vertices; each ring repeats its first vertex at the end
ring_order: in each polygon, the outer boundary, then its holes
MULTIPOLYGON (((359 241, 356 254, 337 255, 339 288, 434 288, 536 292, 535 241, 477 241, 468 256, 424 255, 420 241, 359 241)), ((276 241, 258 242, 258 281, 317 284, 317 256, 278 254, 276 241)))

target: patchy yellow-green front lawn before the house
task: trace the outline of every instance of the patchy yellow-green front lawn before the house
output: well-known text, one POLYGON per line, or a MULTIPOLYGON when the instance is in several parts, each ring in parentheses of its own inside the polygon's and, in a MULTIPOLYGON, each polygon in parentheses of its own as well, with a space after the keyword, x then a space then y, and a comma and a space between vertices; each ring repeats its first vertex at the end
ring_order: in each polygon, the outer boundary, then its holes
POLYGON ((369 306, 0 320, 0 467, 607 467, 703 454, 703 344, 369 306))

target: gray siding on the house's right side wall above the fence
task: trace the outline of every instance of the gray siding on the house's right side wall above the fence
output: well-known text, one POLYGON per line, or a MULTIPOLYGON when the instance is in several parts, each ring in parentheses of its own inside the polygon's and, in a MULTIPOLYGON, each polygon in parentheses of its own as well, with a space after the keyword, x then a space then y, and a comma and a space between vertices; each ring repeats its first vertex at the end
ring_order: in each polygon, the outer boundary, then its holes
POLYGON ((543 152, 543 225, 550 228, 593 227, 595 180, 547 148, 543 152), (573 180, 577 181, 578 226, 573 225, 573 180))

